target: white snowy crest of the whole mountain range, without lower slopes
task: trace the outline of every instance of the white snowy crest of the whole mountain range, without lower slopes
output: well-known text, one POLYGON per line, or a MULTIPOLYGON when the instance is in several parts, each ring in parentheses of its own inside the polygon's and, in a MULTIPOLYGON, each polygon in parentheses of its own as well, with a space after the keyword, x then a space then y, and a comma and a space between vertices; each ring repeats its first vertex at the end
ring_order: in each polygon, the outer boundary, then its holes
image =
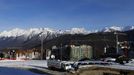
POLYGON ((112 31, 128 31, 134 29, 134 26, 126 26, 126 27, 119 27, 119 26, 112 26, 112 27, 105 27, 102 30, 94 30, 88 31, 84 28, 72 28, 70 30, 55 30, 51 28, 31 28, 31 29, 20 29, 15 28, 9 31, 0 32, 0 38, 6 37, 20 37, 23 36, 25 39, 31 38, 37 34, 45 35, 48 33, 51 34, 88 34, 94 32, 112 32, 112 31))

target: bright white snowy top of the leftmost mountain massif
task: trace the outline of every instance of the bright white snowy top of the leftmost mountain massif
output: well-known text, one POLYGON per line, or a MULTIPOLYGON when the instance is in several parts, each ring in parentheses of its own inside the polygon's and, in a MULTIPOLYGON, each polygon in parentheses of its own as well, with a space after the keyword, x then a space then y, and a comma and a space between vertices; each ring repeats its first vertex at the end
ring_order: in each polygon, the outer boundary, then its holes
POLYGON ((53 30, 49 29, 49 28, 31 28, 28 30, 25 29, 20 29, 20 28, 15 28, 9 31, 3 31, 0 33, 0 37, 18 37, 18 36, 25 36, 25 37, 29 37, 29 36, 33 36, 39 33, 46 33, 46 32, 51 32, 53 33, 53 30))

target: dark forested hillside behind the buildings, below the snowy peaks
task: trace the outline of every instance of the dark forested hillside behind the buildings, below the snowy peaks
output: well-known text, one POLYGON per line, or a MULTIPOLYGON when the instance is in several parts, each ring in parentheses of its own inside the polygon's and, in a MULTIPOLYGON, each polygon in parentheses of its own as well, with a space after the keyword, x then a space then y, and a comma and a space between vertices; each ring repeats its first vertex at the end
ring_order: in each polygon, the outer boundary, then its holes
MULTIPOLYGON (((99 32, 91 34, 66 34, 51 40, 44 41, 44 48, 51 49, 52 46, 60 47, 64 45, 91 45, 94 48, 94 57, 99 57, 104 53, 104 47, 116 47, 116 40, 113 32, 99 32)), ((119 41, 127 40, 127 36, 119 35, 119 41)), ((40 48, 40 44, 34 46, 40 48)))

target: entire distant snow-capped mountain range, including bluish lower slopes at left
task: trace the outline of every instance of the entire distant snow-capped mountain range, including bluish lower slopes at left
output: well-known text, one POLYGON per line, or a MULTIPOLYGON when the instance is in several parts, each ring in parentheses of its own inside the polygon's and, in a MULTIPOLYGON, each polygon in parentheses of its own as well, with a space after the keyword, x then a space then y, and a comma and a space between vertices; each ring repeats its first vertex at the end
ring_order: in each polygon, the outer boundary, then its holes
POLYGON ((114 31, 129 31, 133 30, 134 26, 127 26, 127 27, 105 27, 102 30, 94 30, 88 31, 84 28, 72 28, 70 30, 54 30, 50 28, 31 28, 31 29, 20 29, 15 28, 9 31, 0 32, 0 49, 3 48, 27 48, 27 46, 34 47, 40 44, 41 38, 43 37, 44 41, 51 40, 57 38, 62 35, 68 34, 96 34, 96 33, 103 33, 103 32, 114 32, 114 31), (30 45, 29 45, 30 44, 30 45))

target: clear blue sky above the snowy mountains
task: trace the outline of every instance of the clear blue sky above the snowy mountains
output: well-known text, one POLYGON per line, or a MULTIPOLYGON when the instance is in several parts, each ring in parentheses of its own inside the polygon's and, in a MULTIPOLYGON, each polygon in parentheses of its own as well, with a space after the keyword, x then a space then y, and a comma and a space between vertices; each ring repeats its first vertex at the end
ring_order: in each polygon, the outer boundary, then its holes
POLYGON ((0 0, 0 31, 134 25, 134 0, 0 0))

